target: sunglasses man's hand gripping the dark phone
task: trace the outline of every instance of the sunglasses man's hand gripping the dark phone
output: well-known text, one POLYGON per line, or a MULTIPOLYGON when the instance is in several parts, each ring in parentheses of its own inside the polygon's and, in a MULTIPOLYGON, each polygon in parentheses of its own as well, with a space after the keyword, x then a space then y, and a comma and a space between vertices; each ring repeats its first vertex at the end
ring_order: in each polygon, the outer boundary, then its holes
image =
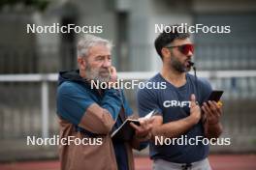
POLYGON ((209 100, 208 103, 204 102, 202 109, 205 112, 208 125, 216 125, 219 123, 222 109, 215 101, 209 100))

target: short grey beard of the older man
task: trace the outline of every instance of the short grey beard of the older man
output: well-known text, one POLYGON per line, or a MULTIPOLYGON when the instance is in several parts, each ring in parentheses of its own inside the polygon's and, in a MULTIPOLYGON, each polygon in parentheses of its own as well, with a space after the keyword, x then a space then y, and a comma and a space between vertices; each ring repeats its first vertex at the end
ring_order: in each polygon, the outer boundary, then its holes
POLYGON ((100 75, 99 69, 93 69, 90 65, 87 65, 85 69, 85 75, 86 79, 88 80, 93 80, 93 81, 99 81, 100 83, 102 82, 109 82, 111 80, 111 75, 107 77, 103 77, 100 75))

